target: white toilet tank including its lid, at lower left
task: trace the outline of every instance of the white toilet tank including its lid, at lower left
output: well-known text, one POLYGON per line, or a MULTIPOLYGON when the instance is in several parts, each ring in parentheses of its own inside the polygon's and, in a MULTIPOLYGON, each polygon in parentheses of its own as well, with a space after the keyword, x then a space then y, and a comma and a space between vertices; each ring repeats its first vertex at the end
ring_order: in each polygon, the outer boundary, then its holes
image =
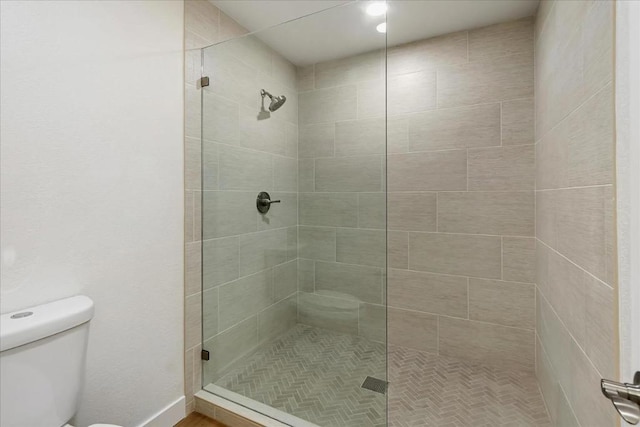
POLYGON ((93 301, 75 296, 0 319, 0 426, 61 427, 77 411, 93 301))

